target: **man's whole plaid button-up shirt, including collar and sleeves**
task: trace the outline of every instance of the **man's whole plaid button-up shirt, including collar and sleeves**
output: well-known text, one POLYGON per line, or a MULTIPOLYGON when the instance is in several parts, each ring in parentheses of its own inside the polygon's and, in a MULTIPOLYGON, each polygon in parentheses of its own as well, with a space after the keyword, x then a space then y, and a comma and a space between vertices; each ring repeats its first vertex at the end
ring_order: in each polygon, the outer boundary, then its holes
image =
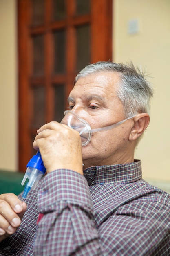
POLYGON ((90 167, 84 176, 53 171, 26 203, 0 255, 170 255, 170 195, 141 179, 140 161, 90 167))

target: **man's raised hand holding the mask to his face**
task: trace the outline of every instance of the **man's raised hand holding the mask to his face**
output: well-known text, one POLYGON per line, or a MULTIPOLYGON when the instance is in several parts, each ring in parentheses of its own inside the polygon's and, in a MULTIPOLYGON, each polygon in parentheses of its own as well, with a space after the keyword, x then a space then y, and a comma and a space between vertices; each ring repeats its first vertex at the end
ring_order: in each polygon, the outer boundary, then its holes
POLYGON ((65 124, 50 122, 37 133, 33 147, 40 150, 47 173, 64 168, 83 175, 79 132, 65 124))

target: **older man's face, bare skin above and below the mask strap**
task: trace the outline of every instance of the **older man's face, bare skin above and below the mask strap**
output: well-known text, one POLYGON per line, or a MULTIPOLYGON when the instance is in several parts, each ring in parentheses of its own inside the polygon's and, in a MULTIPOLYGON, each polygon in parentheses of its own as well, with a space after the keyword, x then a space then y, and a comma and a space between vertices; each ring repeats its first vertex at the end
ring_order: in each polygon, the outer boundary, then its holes
MULTIPOLYGON (((118 83, 119 74, 115 72, 80 78, 68 98, 70 110, 88 121, 92 129, 124 120, 123 106, 116 96, 118 83)), ((132 120, 128 120, 117 128, 93 133, 90 143, 82 147, 85 168, 129 162, 133 157, 133 154, 129 155, 128 141, 131 124, 132 120)))

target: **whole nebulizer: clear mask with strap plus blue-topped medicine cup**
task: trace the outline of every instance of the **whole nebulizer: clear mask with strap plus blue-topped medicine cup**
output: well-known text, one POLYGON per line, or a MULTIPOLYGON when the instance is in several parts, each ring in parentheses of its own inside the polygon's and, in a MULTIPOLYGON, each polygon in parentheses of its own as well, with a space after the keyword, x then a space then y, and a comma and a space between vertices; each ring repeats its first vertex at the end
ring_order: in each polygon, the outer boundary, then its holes
MULTIPOLYGON (((128 120, 132 117, 135 117, 135 115, 137 115, 137 113, 135 113, 134 115, 132 115, 132 116, 128 117, 127 119, 124 119, 116 124, 112 124, 110 126, 105 126, 105 127, 101 127, 101 128, 95 128, 95 129, 91 129, 90 124, 88 124, 88 122, 86 120, 82 119, 81 117, 79 117, 79 115, 77 115, 75 112, 73 112, 71 110, 66 110, 64 112, 64 115, 65 116, 63 117, 61 124, 66 124, 69 127, 77 130, 82 139, 82 146, 86 146, 90 142, 93 132, 101 132, 101 131, 113 129, 113 128, 119 126, 120 124, 123 124, 126 120, 128 120)), ((22 200, 24 200, 27 197, 27 194, 29 193, 29 191, 31 189, 35 189, 39 180, 42 178, 42 176, 46 172, 46 168, 44 167, 39 150, 37 151, 36 155, 34 155, 30 159, 30 161, 28 162, 26 167, 27 167, 26 173, 24 175, 24 178, 23 178, 21 184, 24 185, 26 179, 28 179, 29 182, 25 186, 24 193, 22 195, 22 200)))

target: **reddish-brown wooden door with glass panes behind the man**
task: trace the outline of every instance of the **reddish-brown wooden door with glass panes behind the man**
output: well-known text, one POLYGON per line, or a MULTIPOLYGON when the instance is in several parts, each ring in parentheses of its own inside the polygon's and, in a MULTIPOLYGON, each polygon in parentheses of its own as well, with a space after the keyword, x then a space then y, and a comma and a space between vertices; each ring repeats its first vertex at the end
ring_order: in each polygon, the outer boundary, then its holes
POLYGON ((36 130, 61 121, 77 72, 112 59, 112 2, 18 0, 20 171, 36 130))

